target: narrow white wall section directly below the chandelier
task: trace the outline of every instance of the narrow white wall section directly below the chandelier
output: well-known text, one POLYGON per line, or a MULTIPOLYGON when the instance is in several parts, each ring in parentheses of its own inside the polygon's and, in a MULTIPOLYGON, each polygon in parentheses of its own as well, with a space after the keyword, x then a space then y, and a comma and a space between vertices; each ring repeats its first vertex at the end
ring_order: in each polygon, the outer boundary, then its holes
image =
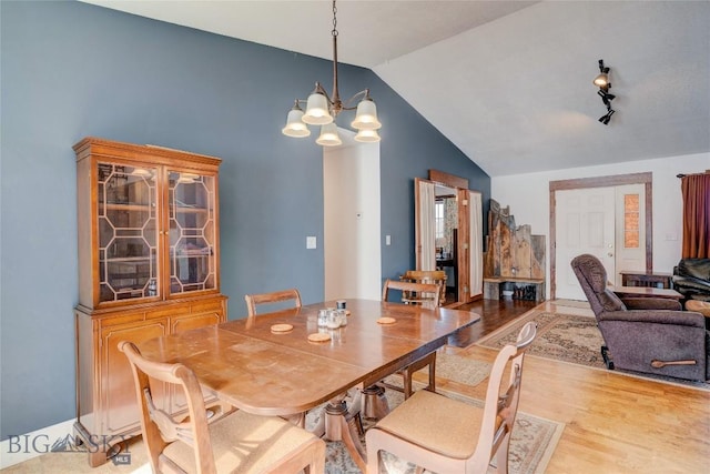
POLYGON ((353 143, 323 152, 326 300, 382 293, 379 144, 353 143))

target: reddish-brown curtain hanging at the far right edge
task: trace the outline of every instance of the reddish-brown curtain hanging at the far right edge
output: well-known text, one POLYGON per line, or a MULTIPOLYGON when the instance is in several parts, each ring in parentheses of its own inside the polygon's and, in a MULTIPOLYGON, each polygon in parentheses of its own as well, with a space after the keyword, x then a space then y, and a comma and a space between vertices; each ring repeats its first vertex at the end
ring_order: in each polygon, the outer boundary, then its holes
POLYGON ((710 259, 710 172, 681 178, 683 259, 710 259))

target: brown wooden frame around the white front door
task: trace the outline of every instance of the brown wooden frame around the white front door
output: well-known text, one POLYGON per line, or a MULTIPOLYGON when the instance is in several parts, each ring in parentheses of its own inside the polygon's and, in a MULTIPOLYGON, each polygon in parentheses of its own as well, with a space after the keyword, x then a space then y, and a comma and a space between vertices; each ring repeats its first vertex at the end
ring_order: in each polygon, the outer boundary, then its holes
MULTIPOLYGON (((556 275, 556 251, 557 251, 557 201, 555 193, 557 191, 580 190, 587 188, 615 188, 626 184, 643 184, 645 185, 645 203, 646 203, 646 271, 653 270, 653 195, 652 195, 653 173, 630 173, 616 174, 609 177, 580 178, 574 180, 550 181, 549 184, 549 212, 550 212, 550 300, 555 300, 557 290, 556 275)), ((616 212, 616 210, 615 210, 616 212)), ((615 231, 616 232, 616 231, 615 231)))

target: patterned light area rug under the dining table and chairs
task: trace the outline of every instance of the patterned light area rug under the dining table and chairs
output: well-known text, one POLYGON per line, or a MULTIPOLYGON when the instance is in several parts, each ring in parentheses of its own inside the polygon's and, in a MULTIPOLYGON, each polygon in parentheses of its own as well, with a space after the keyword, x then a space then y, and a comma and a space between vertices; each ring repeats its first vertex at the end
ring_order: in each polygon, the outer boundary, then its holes
MULTIPOLYGON (((415 383, 415 386, 416 385, 420 386, 423 384, 415 383)), ((480 400, 438 389, 437 392, 452 399, 460 400, 464 403, 483 406, 483 401, 480 400)), ((386 392, 386 396, 390 410, 394 410, 404 400, 402 393, 393 390, 388 390, 386 392)), ((317 423, 318 413, 318 410, 308 412, 308 415, 306 416, 307 427, 314 426, 317 423)), ((373 424, 373 422, 365 420, 363 424, 365 425, 365 428, 367 428, 373 424)), ((508 472, 511 474, 544 473, 552 453, 555 452, 555 447, 557 446, 564 428, 564 423, 518 412, 510 437, 508 472)), ((363 443, 363 446, 365 446, 364 436, 361 437, 361 442, 363 443)), ((416 471, 416 466, 408 464, 389 453, 383 453, 382 467, 384 468, 383 471, 388 474, 413 474, 416 471)), ((496 471, 491 467, 489 472, 494 473, 496 471)), ((359 474, 362 471, 353 462, 353 458, 345 448, 345 445, 342 442, 336 441, 327 443, 325 473, 359 474)))

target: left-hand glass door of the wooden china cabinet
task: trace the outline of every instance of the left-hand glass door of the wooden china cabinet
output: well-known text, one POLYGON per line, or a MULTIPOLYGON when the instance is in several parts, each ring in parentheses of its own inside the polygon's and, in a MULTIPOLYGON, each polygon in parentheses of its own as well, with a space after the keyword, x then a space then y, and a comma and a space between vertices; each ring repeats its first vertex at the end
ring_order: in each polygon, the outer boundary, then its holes
POLYGON ((156 172, 98 163, 101 302, 159 294, 156 172))

